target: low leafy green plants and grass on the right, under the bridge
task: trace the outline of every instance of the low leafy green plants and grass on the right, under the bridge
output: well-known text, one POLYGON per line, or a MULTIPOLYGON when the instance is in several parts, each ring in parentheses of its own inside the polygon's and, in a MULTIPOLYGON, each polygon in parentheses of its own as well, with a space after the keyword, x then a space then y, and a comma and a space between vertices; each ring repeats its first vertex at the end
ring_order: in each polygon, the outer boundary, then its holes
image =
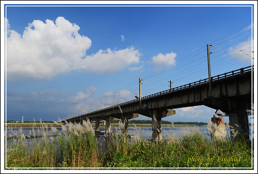
MULTIPOLYGON (((213 123, 214 124, 214 123, 213 123)), ((211 133, 215 125, 208 125, 211 133)), ((173 130, 171 130, 173 131, 173 130)), ((250 144, 245 139, 232 142, 230 139, 212 140, 197 127, 185 128, 177 135, 166 134, 160 142, 138 138, 129 141, 127 151, 123 150, 123 138, 112 139, 104 167, 116 168, 252 168, 253 158, 250 144), (178 136, 180 135, 180 136, 178 136), (208 161, 212 158, 213 161, 208 161), (235 161, 229 161, 230 158, 235 161), (222 161, 221 159, 224 159, 222 161), (197 159, 197 161, 189 161, 197 159), (198 161, 198 159, 200 161, 198 161), (202 160, 202 161, 201 161, 202 160), (225 161, 226 160, 226 161, 225 161)))

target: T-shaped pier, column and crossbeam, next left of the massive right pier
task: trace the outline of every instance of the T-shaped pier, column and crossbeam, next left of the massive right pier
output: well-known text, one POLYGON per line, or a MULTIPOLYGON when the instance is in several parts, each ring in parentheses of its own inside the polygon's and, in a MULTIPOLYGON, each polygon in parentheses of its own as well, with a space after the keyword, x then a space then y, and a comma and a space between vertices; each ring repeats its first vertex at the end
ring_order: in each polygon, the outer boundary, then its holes
POLYGON ((161 141, 161 118, 174 115, 175 110, 138 109, 137 113, 152 118, 152 140, 161 141))

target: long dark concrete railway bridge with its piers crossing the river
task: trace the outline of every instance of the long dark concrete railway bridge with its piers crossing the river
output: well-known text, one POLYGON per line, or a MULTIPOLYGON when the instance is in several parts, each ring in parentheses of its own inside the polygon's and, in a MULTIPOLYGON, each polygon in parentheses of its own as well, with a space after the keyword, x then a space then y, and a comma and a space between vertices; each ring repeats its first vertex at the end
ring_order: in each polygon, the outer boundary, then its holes
POLYGON ((161 118, 174 115, 176 108, 205 105, 227 113, 233 129, 249 137, 248 115, 245 110, 252 110, 253 73, 253 66, 248 66, 211 77, 211 80, 207 78, 145 97, 140 96, 139 99, 65 120, 80 123, 86 119, 95 120, 95 131, 99 131, 99 121, 106 120, 106 133, 110 133, 111 120, 121 119, 125 123, 125 131, 128 131, 128 119, 140 114, 152 118, 152 138, 159 141, 162 139, 161 118))

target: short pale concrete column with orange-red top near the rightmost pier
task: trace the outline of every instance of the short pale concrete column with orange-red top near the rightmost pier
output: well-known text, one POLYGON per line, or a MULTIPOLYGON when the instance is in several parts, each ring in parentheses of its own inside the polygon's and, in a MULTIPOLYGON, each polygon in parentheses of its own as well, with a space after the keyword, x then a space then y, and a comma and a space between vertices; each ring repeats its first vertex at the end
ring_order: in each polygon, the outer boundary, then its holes
POLYGON ((226 132, 224 118, 212 117, 211 120, 213 123, 215 123, 214 126, 217 126, 217 128, 214 128, 212 132, 213 133, 212 139, 214 138, 215 140, 225 141, 227 139, 227 132, 226 132))

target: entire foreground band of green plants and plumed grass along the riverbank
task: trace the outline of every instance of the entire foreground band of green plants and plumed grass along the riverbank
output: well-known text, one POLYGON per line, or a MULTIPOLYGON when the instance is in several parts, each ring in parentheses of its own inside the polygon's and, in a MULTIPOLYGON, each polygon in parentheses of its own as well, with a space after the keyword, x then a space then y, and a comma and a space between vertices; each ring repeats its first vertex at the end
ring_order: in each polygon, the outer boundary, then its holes
MULTIPOLYGON (((58 123, 56 123, 58 124, 58 123)), ((123 130, 118 123, 117 129, 123 130)), ((208 123, 214 131, 213 123, 208 123)), ((40 139, 27 141, 19 132, 12 132, 19 139, 6 140, 6 169, 13 168, 250 168, 252 169, 251 142, 237 133, 230 139, 210 140, 200 130, 182 130, 180 137, 165 135, 160 142, 133 136, 130 139, 122 131, 115 130, 102 138, 95 137, 90 122, 60 124, 62 134, 55 127, 56 137, 48 137, 44 123, 38 130, 40 139), (44 133, 45 132, 45 133, 44 133), (18 135, 17 135, 18 134, 18 135)), ((140 128, 135 127, 138 135, 140 128)), ((152 169, 153 170, 153 169, 152 169)))

